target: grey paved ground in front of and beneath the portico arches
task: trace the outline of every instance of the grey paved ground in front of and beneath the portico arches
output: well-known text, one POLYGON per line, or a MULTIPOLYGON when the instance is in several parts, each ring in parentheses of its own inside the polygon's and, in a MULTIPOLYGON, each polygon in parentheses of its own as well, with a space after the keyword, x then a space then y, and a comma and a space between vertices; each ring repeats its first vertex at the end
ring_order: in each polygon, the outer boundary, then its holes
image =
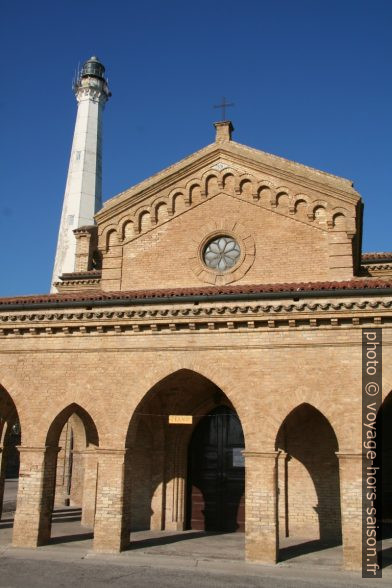
MULTIPOLYGON (((52 539, 36 550, 11 547, 15 484, 8 484, 8 512, 0 521, 0 587, 35 588, 79 585, 193 588, 208 586, 392 586, 392 560, 382 580, 362 580, 341 570, 341 546, 306 538, 285 540, 277 566, 244 562, 244 535, 187 532, 138 532, 131 548, 115 556, 92 552, 92 531, 80 525, 80 509, 56 509, 52 539), (11 487, 13 486, 13 487, 11 487)), ((392 553, 392 540, 384 547, 392 553)))

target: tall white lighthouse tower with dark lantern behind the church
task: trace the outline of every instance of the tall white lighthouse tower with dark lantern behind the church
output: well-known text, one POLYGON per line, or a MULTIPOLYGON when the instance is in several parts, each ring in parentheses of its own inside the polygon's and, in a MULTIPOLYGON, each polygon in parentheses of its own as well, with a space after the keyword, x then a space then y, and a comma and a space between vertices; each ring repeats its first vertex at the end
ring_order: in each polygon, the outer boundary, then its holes
POLYGON ((102 206, 102 113, 111 96, 105 68, 97 57, 88 59, 74 84, 78 102, 63 211, 57 241, 51 292, 59 276, 75 271, 74 229, 94 224, 102 206))

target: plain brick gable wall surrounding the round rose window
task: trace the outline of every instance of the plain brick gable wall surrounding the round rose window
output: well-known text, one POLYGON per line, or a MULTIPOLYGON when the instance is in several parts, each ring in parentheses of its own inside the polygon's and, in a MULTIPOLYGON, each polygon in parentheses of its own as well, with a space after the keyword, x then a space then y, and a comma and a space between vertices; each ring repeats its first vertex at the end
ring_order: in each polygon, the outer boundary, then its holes
MULTIPOLYGON (((219 195, 124 245, 120 289, 206 285, 192 271, 192 258, 199 244, 193 236, 211 218, 222 218, 227 226, 235 226, 240 218, 254 239, 254 263, 236 283, 329 279, 327 232, 219 195)), ((208 234, 208 228, 205 232, 208 234)), ((236 235, 235 228, 232 234, 236 235)), ((119 248, 115 251, 120 254, 119 248)), ((104 260, 104 267, 105 263, 108 262, 104 260)))

